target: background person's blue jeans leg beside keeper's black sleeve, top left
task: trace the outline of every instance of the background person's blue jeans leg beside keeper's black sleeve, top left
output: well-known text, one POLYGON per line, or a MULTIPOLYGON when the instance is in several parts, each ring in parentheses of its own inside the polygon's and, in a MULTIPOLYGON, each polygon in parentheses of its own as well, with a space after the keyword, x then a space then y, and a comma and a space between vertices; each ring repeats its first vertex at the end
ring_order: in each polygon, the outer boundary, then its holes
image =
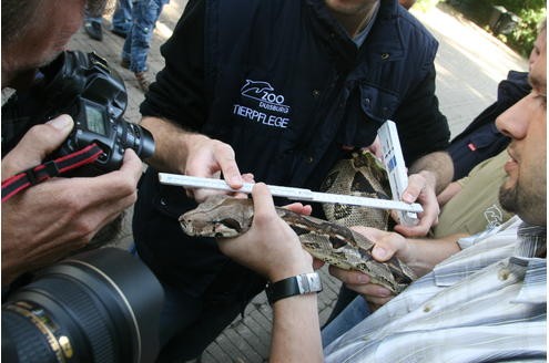
POLYGON ((122 59, 130 61, 134 73, 146 71, 146 56, 151 46, 154 27, 162 8, 170 0, 139 0, 133 2, 132 28, 125 38, 122 59))

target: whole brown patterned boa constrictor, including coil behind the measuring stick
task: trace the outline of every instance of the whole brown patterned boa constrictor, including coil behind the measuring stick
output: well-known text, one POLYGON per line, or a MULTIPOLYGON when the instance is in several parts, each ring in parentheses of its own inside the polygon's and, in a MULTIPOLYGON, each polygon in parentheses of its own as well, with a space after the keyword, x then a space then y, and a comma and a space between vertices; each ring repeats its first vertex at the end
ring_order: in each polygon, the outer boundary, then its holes
MULTIPOLYGON (((385 168, 369 152, 339 160, 328 173, 321 189, 368 197, 390 196, 385 168)), ((374 243, 348 228, 363 225, 386 229, 389 211, 337 204, 323 207, 331 221, 278 207, 276 211, 297 234, 303 248, 328 265, 363 271, 370 276, 374 283, 384 286, 394 293, 400 292, 416 279, 414 271, 395 257, 387 262, 374 260, 374 243)), ((180 224, 190 236, 232 238, 250 229, 253 214, 251 199, 214 195, 197 208, 182 215, 180 224)))

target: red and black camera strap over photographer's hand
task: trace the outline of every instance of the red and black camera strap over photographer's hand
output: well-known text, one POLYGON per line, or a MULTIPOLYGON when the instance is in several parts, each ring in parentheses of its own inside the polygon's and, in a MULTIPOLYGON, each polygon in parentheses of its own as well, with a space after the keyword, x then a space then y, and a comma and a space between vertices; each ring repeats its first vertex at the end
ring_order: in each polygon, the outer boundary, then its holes
POLYGON ((72 154, 58 157, 57 159, 16 174, 2 182, 2 203, 33 185, 82 165, 91 164, 95 162, 101 154, 103 154, 103 151, 96 144, 91 144, 72 154))

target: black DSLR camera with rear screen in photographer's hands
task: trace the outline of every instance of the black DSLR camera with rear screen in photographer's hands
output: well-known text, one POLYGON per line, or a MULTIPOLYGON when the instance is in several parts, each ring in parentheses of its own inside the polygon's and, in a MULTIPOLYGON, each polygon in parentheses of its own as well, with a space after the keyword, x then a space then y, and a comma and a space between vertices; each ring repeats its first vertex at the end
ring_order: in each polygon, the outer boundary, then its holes
POLYGON ((79 170, 79 175, 94 176, 119 169, 126 148, 142 159, 153 155, 151 133, 122 118, 128 105, 125 85, 104 59, 95 53, 65 51, 40 72, 43 80, 39 92, 44 103, 37 121, 60 114, 74 120, 73 131, 52 158, 95 143, 103 153, 79 170))

